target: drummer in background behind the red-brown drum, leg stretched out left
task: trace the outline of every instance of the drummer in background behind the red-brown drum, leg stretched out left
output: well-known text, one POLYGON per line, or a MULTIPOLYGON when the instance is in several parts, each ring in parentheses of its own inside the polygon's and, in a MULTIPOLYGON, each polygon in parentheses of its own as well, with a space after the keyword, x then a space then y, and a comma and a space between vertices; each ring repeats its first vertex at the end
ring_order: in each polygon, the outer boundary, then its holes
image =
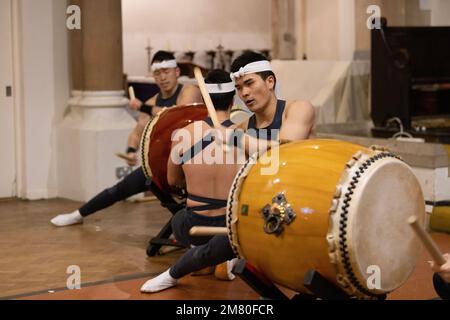
MULTIPOLYGON (((128 158, 130 158, 127 161, 130 166, 134 166, 137 163, 137 152, 141 136, 152 116, 156 115, 163 107, 202 102, 198 87, 178 83, 180 69, 172 53, 166 51, 156 52, 152 59, 152 71, 160 93, 145 103, 137 99, 130 101, 131 108, 141 111, 139 112, 136 127, 128 137, 126 153, 128 158)), ((142 167, 139 167, 113 187, 100 192, 78 210, 72 213, 60 214, 53 218, 51 223, 58 227, 82 223, 84 217, 105 209, 118 201, 149 190, 150 181, 147 181, 142 167)))

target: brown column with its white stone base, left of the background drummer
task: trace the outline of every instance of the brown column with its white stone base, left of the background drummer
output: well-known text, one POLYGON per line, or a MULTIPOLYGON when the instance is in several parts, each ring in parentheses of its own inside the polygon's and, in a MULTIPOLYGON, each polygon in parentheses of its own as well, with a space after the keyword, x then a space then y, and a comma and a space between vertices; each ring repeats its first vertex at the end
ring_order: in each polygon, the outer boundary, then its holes
POLYGON ((86 201, 117 182, 135 120, 123 86, 121 0, 71 0, 81 29, 69 31, 72 97, 58 126, 59 195, 86 201))

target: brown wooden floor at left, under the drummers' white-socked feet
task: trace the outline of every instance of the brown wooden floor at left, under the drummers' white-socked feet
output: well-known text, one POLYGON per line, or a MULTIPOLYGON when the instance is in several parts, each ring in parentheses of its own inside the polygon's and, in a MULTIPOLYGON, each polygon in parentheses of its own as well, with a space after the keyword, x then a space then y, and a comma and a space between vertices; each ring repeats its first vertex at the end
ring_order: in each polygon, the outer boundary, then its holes
POLYGON ((65 288, 71 265, 80 267, 82 283, 154 275, 182 253, 147 257, 149 239, 170 218, 157 203, 121 202, 82 225, 50 224, 79 205, 60 199, 0 202, 0 297, 65 288))

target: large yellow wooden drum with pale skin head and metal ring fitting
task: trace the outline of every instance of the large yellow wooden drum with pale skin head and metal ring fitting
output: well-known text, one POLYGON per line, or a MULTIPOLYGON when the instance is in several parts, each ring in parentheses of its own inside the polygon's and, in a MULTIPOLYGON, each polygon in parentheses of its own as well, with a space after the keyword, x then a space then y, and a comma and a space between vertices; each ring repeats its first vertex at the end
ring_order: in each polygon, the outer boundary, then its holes
POLYGON ((423 222, 425 201, 398 156, 307 140, 249 159, 230 190, 227 228, 235 253, 275 283, 308 293, 313 269, 350 296, 380 298, 416 265, 412 215, 423 222), (270 159, 278 171, 265 175, 270 159))

